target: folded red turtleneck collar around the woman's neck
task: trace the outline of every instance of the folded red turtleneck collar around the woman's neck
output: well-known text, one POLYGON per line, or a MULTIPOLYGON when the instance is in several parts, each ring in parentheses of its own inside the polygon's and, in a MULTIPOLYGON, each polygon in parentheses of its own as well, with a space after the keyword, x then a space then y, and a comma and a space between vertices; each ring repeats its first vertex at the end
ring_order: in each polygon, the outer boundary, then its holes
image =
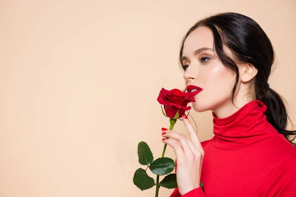
POLYGON ((278 134, 266 120, 267 107, 253 100, 226 118, 217 118, 214 112, 213 145, 224 150, 245 148, 278 134))

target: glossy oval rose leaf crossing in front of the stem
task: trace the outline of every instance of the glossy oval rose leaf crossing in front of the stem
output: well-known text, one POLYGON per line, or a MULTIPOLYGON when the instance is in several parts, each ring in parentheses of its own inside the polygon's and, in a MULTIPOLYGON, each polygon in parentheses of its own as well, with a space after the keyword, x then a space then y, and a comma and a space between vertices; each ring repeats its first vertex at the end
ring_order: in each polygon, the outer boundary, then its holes
POLYGON ((171 158, 158 158, 149 165, 151 172, 156 175, 165 175, 172 172, 175 168, 175 162, 171 158))

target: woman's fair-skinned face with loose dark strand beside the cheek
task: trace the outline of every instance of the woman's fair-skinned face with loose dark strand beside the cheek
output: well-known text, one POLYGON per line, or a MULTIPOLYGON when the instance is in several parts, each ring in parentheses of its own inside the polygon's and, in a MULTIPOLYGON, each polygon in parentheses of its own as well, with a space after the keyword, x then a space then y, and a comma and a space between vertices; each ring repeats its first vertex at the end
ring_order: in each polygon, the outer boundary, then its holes
POLYGON ((187 85, 203 90, 194 98, 192 107, 197 112, 228 108, 232 105, 231 91, 235 74, 218 60, 213 51, 214 38, 210 29, 198 27, 185 39, 182 62, 187 85))

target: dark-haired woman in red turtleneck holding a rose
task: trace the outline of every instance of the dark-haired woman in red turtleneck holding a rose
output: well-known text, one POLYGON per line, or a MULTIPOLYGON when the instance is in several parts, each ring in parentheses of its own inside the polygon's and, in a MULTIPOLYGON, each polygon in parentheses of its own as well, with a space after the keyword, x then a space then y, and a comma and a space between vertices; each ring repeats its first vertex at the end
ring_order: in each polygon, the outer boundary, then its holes
POLYGON ((286 130, 284 102, 267 83, 273 61, 269 38, 247 16, 222 13, 190 28, 180 63, 187 91, 201 90, 193 109, 213 112, 214 137, 200 142, 186 116, 189 138, 162 129, 177 157, 171 197, 296 197, 296 131, 286 130))

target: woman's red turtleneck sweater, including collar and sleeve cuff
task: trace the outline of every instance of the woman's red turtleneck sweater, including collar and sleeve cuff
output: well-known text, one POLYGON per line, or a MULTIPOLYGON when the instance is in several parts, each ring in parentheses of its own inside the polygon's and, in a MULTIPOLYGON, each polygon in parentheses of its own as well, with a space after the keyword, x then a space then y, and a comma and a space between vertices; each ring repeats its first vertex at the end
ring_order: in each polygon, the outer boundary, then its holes
MULTIPOLYGON (((296 147, 266 121, 266 108, 254 100, 226 118, 213 113, 214 137, 201 142, 205 193, 182 197, 296 197, 296 147)), ((170 197, 181 197, 178 188, 170 197)))

